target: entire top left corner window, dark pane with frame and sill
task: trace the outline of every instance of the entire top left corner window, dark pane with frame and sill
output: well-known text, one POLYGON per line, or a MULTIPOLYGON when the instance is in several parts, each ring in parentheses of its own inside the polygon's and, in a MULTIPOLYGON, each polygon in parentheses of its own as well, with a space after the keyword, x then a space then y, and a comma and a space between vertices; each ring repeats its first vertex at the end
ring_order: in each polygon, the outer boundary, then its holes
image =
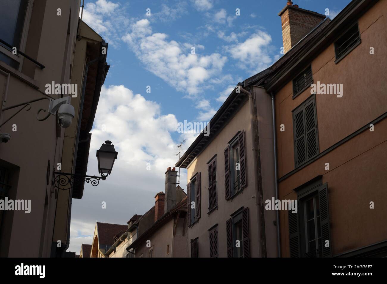
MULTIPOLYGON (((1 39, 16 47, 17 51, 24 50, 32 6, 32 0, 6 0, 2 2, 0 12, 1 39)), ((12 54, 11 48, 0 44, 0 60, 18 69, 22 57, 12 54)))

